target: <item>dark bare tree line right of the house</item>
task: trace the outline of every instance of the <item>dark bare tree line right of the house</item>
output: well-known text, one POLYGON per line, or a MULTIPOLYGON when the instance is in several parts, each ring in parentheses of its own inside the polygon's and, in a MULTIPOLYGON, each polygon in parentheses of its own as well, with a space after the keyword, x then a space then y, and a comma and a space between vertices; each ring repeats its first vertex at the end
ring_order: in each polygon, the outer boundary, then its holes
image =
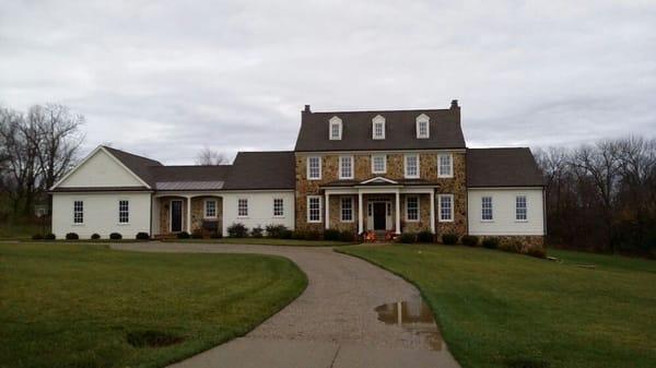
POLYGON ((656 256, 656 139, 535 153, 546 179, 551 244, 656 256))

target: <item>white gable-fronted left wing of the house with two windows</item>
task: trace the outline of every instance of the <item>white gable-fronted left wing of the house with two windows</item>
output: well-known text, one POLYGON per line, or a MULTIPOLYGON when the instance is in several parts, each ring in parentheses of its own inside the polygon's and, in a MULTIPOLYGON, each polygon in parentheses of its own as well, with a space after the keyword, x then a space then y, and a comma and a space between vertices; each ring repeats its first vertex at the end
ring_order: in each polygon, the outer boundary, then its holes
POLYGON ((134 238, 150 233, 151 189, 110 151, 94 150, 51 188, 52 233, 81 239, 119 233, 134 238))

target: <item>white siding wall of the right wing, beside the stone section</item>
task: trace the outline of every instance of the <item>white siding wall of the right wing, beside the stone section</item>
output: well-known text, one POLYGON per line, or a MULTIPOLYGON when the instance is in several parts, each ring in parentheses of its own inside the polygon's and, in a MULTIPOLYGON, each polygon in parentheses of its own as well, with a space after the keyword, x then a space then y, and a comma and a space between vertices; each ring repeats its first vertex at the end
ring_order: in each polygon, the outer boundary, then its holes
POLYGON ((499 188, 468 190, 469 234, 544 235, 541 188, 499 188), (526 195, 528 219, 515 219, 515 198, 526 195), (492 197, 492 221, 481 221, 481 199, 492 197))

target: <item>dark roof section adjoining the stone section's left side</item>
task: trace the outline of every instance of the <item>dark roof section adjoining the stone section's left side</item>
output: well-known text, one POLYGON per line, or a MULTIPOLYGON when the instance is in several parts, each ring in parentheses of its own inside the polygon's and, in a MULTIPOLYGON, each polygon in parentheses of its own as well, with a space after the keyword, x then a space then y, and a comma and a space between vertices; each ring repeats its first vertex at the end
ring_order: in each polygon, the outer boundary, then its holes
POLYGON ((292 151, 239 152, 223 189, 294 189, 295 158, 292 151))

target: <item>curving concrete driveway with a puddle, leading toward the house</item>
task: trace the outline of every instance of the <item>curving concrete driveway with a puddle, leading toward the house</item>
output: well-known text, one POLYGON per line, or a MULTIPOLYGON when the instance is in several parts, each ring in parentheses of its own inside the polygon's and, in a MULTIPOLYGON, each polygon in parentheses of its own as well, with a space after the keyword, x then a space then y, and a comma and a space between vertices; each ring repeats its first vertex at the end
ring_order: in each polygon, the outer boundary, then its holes
POLYGON ((459 367, 414 286, 330 248, 209 244, 116 244, 154 252, 239 252, 291 259, 307 289, 246 336, 172 367, 459 367), (423 319, 420 318, 423 316, 423 319))

